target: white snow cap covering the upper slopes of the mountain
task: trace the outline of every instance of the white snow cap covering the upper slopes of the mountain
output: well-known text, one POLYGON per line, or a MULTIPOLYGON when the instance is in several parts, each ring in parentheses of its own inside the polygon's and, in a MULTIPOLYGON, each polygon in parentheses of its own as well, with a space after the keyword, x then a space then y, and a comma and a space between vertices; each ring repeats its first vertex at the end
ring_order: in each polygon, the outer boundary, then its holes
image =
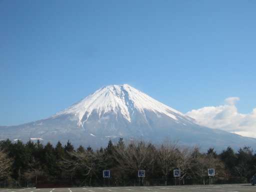
POLYGON ((69 108, 56 113, 52 117, 63 114, 74 114, 78 117, 78 124, 83 125, 93 110, 96 110, 99 117, 109 111, 115 114, 120 111, 123 117, 129 122, 131 122, 131 117, 135 111, 145 115, 145 110, 165 114, 176 121, 183 119, 187 123, 193 122, 192 118, 164 105, 128 84, 109 85, 98 89, 91 95, 69 108))

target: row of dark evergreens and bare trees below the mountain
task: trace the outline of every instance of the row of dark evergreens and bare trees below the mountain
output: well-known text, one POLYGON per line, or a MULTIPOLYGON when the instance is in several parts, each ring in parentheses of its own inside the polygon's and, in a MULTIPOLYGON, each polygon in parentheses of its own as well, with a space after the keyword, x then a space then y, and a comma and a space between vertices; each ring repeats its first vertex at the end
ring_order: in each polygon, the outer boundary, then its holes
POLYGON ((202 182, 207 169, 215 169, 218 182, 247 182, 256 172, 256 154, 244 146, 237 152, 227 147, 220 153, 209 148, 181 147, 177 142, 165 141, 159 146, 144 141, 116 144, 109 140, 105 148, 93 150, 79 146, 74 149, 67 141, 43 145, 40 141, 0 141, 0 179, 33 180, 36 184, 52 180, 82 180, 81 184, 102 184, 102 170, 110 170, 111 183, 133 184, 137 171, 146 172, 148 184, 164 184, 173 179, 173 169, 180 169, 180 180, 202 182), (157 180, 158 179, 158 180, 157 180), (238 180, 237 180, 238 179, 238 180), (161 183, 157 183, 161 182, 161 183))

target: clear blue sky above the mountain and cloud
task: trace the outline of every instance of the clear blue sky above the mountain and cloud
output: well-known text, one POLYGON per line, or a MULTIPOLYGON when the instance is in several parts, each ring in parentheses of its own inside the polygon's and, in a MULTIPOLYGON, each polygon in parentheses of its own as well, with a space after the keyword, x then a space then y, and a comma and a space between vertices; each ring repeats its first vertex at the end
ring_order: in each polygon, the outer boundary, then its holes
POLYGON ((180 112, 256 108, 256 0, 0 0, 0 125, 128 83, 180 112))

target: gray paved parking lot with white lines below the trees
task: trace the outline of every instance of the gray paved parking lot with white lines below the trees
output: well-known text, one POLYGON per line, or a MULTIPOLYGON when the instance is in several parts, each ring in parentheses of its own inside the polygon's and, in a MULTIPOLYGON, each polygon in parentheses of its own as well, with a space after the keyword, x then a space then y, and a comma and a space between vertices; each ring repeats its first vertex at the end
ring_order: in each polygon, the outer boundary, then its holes
POLYGON ((72 188, 19 188, 3 189, 0 192, 255 192, 256 185, 218 184, 184 186, 125 186, 125 187, 72 187, 72 188))

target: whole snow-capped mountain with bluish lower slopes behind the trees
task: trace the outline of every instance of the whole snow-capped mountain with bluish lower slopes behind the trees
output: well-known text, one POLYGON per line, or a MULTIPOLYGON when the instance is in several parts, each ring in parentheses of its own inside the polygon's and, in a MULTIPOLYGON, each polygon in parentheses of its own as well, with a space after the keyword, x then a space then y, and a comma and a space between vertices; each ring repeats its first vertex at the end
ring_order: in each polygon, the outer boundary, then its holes
POLYGON ((199 126, 193 118, 128 84, 100 88, 46 119, 0 126, 1 139, 41 139, 52 144, 69 140, 75 146, 93 148, 119 137, 154 144, 175 140, 184 145, 199 145, 203 150, 227 146, 237 149, 244 145, 256 148, 255 138, 199 126))

